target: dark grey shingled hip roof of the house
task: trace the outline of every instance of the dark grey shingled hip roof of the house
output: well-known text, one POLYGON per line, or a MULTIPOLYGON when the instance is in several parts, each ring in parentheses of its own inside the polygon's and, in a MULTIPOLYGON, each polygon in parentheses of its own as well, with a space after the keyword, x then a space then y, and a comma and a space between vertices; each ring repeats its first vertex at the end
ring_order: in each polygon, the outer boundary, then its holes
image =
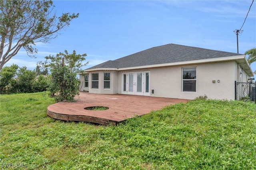
POLYGON ((243 54, 217 51, 212 49, 204 49, 199 47, 190 47, 186 45, 178 45, 171 43, 161 45, 158 47, 152 47, 144 51, 140 51, 138 53, 134 53, 126 57, 116 59, 114 61, 109 60, 99 65, 90 67, 86 70, 98 68, 120 69, 127 67, 139 67, 146 65, 157 65, 182 61, 194 61, 200 59, 213 59, 237 55, 243 54))

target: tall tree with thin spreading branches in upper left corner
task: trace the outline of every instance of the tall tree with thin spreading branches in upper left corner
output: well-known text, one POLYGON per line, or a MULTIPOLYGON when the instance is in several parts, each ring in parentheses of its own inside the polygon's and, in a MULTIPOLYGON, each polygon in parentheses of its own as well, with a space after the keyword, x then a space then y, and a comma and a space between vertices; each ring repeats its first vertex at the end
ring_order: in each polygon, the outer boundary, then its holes
POLYGON ((21 48, 31 57, 37 53, 36 42, 56 38, 79 14, 57 17, 52 0, 0 1, 0 70, 21 48), (4 52, 5 50, 5 52, 4 52))

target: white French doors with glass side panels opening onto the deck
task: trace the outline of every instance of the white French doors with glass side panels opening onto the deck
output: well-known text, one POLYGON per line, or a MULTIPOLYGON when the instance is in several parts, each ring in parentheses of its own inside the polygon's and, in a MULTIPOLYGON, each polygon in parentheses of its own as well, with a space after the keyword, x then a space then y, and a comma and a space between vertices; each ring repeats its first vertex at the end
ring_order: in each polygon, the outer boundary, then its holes
POLYGON ((149 96, 149 71, 122 73, 122 94, 149 96))

